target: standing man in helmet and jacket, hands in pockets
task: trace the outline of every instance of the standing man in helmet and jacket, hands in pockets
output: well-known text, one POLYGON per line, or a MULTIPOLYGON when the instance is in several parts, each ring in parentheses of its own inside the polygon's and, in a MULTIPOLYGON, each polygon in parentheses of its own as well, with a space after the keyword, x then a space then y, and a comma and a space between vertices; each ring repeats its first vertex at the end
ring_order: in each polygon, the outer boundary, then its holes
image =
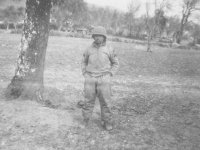
POLYGON ((84 83, 84 105, 82 110, 82 128, 88 125, 95 105, 99 99, 102 124, 106 130, 112 130, 111 112, 108 107, 111 98, 111 77, 119 67, 119 60, 112 47, 106 44, 106 30, 95 27, 92 33, 94 42, 86 49, 81 61, 84 83))

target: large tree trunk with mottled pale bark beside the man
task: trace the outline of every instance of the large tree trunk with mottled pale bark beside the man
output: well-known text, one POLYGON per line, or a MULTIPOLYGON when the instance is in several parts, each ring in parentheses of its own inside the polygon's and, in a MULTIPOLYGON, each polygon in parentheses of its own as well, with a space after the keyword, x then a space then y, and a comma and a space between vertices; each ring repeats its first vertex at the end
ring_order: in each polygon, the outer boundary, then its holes
POLYGON ((26 1, 26 18, 17 67, 5 92, 9 99, 21 97, 42 100, 50 9, 50 0, 26 1))

